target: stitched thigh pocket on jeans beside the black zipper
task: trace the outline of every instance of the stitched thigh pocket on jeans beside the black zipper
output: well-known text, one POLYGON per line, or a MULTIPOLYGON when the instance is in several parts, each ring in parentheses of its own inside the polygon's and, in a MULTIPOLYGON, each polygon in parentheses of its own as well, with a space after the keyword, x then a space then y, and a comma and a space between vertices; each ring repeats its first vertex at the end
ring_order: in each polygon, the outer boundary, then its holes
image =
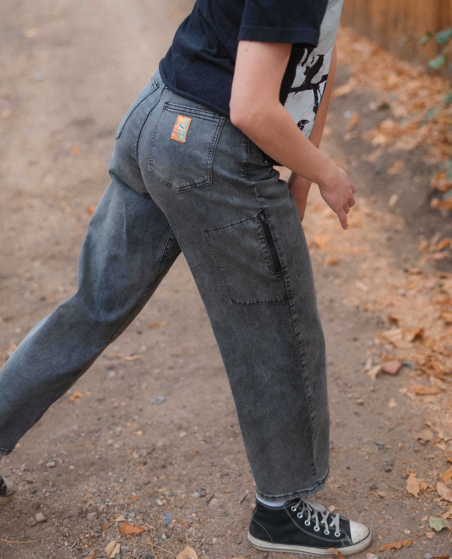
POLYGON ((207 229, 204 237, 232 303, 250 305, 286 299, 281 262, 263 211, 243 221, 207 229))

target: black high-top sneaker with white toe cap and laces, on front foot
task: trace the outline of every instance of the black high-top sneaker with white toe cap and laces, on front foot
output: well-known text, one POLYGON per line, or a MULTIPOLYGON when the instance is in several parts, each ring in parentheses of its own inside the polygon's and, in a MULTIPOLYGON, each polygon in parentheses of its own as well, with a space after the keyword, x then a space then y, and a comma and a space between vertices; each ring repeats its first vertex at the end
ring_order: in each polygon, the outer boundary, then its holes
POLYGON ((331 514, 304 498, 282 506, 264 505, 256 499, 248 539, 263 551, 331 557, 332 547, 342 555, 363 551, 372 542, 372 534, 364 524, 331 514))

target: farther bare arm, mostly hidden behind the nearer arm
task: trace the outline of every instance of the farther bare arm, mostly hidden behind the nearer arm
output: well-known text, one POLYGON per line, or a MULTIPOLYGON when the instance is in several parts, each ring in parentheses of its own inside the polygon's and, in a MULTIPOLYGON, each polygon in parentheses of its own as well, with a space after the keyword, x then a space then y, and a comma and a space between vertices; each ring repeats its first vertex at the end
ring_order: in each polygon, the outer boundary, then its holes
MULTIPOLYGON (((328 72, 328 79, 326 80, 325 84, 325 91, 323 91, 322 101, 320 102, 320 106, 318 107, 316 120, 314 121, 314 126, 312 127, 311 135, 309 137, 309 141, 311 142, 311 144, 315 145, 316 148, 318 148, 318 146, 320 145, 320 140, 323 134, 323 127, 325 126, 326 115, 330 106, 331 91, 336 74, 336 64, 337 53, 336 45, 334 45, 331 53, 331 63, 328 72)), ((311 181, 308 181, 301 175, 292 173, 287 184, 297 203, 300 219, 303 220, 304 211, 306 210, 306 203, 308 200, 308 194, 311 188, 311 181)))

